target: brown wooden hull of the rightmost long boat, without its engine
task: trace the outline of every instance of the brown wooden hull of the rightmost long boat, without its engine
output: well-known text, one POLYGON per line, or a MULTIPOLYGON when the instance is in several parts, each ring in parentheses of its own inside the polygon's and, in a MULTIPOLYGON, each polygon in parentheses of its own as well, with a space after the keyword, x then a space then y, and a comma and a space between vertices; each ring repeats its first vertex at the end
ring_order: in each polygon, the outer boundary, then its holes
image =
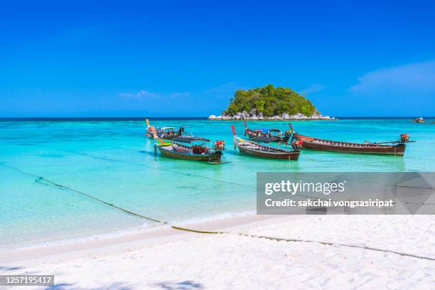
POLYGON ((404 156, 404 151, 406 149, 406 145, 403 143, 399 143, 396 145, 359 144, 340 141, 329 141, 324 139, 314 139, 299 134, 296 134, 296 138, 302 140, 302 149, 317 151, 404 156), (316 141, 309 141, 309 139, 313 139, 316 141))

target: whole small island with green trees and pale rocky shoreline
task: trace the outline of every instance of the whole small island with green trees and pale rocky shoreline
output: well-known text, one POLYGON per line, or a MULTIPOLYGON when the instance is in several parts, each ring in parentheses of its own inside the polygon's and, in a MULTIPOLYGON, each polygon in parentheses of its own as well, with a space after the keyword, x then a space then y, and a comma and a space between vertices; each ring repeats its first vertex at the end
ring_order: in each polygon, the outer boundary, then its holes
POLYGON ((210 120, 331 120, 323 116, 305 97, 286 87, 267 85, 251 90, 237 90, 222 115, 210 120))

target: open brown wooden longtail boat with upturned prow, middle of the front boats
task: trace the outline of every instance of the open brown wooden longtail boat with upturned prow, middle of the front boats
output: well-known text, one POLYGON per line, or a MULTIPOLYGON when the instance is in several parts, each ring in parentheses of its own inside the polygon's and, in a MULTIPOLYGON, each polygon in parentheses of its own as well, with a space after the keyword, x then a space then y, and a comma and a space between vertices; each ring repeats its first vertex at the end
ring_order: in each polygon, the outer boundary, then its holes
MULTIPOLYGON (((232 133, 234 134, 234 145, 243 154, 257 156, 257 157, 264 157, 269 159, 286 159, 286 160, 296 161, 298 160, 299 154, 301 153, 299 150, 279 149, 272 146, 259 144, 254 141, 242 139, 239 136, 237 136, 234 125, 232 125, 231 128, 232 128, 232 133)), ((267 138, 267 137, 262 136, 262 138, 267 138)))

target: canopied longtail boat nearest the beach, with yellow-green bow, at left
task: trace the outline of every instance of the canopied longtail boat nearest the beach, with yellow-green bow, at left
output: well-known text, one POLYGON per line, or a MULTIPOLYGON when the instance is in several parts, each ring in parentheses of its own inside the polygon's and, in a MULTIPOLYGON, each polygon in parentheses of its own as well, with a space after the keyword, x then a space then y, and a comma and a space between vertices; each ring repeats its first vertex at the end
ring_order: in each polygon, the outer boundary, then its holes
MULTIPOLYGON (((151 127, 155 131, 154 127, 151 127)), ((170 142, 160 139, 154 134, 154 152, 159 150, 161 154, 176 158, 194 161, 208 161, 220 163, 224 141, 216 141, 215 147, 211 148, 210 139, 194 136, 181 136, 172 139, 170 142)))

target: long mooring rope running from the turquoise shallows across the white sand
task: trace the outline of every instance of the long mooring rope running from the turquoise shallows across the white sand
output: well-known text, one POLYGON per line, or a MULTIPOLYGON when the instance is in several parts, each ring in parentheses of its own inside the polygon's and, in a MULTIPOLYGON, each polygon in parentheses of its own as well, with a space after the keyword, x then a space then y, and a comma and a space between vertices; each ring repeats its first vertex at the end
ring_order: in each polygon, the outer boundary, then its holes
MULTIPOLYGON (((21 172, 23 174, 26 174, 28 176, 32 176, 34 178, 36 178, 35 182, 41 183, 40 181, 45 181, 49 184, 51 184, 52 186, 55 186, 56 188, 60 188, 60 189, 65 189, 65 190, 70 190, 74 193, 79 193, 81 195, 84 195, 88 198, 92 198, 92 200, 97 200, 100 203, 103 203, 104 205, 109 205, 112 208, 116 208, 117 210, 121 210, 124 213, 127 213, 129 215, 134 215, 138 218, 144 218, 146 220, 151 220, 153 222, 158 222, 164 225, 169 225, 171 228, 173 228, 174 230, 182 230, 185 232, 195 232, 195 233, 200 233, 200 234, 232 234, 231 232, 223 232, 223 231, 206 231, 206 230, 195 230, 195 229, 189 229, 187 227, 178 227, 176 225, 171 225, 169 222, 165 222, 165 221, 161 221, 161 220, 157 220, 154 218, 149 218, 145 215, 141 215, 139 213, 134 213, 131 210, 127 210, 125 208, 122 208, 118 205, 114 205, 113 203, 109 203, 105 200, 102 200, 100 198, 96 198, 93 195, 87 194, 87 193, 83 193, 80 190, 75 190, 74 188, 70 188, 68 186, 63 186, 59 183, 55 183, 53 181, 48 180, 47 178, 41 177, 41 176, 37 176, 36 174, 33 173, 29 173, 27 171, 23 171, 20 168, 16 168, 13 166, 9 166, 6 165, 4 162, 0 162, 0 165, 5 166, 7 168, 11 168, 14 169, 15 171, 21 172)), ((409 254, 406 252, 397 252, 397 251, 393 251, 390 249, 380 249, 380 248, 375 248, 375 247, 368 247, 368 246, 359 246, 359 245, 349 245, 349 244, 341 244, 341 243, 335 243, 335 242, 323 242, 323 241, 316 241, 316 240, 301 240, 301 239, 288 239, 288 238, 282 238, 282 237, 269 237, 269 236, 264 236, 264 235, 251 235, 251 234, 246 234, 243 232, 239 232, 237 233, 237 235, 240 235, 242 237, 255 237, 255 238, 259 238, 259 239, 267 239, 267 240, 273 240, 273 241, 278 241, 278 242, 305 242, 305 243, 318 243, 321 245, 328 245, 328 246, 338 246, 338 247, 353 247, 353 248, 359 248, 359 249, 368 249, 368 250, 372 250, 372 251, 376 251, 376 252, 386 252, 386 253, 391 253, 391 254, 399 254, 400 256, 403 257, 413 257, 413 258, 417 258, 417 259, 426 259, 426 260, 430 260, 430 261, 435 261, 435 258, 431 258, 431 257, 425 257, 425 256, 420 256, 417 254, 409 254)))

